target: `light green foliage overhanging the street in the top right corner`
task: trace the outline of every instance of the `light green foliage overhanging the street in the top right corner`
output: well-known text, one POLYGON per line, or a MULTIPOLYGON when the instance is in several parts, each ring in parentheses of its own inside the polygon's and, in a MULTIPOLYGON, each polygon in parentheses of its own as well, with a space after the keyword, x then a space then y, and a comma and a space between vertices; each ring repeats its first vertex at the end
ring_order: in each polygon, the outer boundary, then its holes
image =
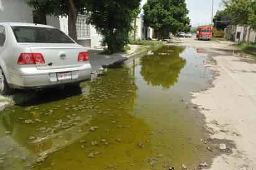
POLYGON ((256 1, 223 0, 227 12, 234 17, 233 24, 250 25, 256 29, 256 1))

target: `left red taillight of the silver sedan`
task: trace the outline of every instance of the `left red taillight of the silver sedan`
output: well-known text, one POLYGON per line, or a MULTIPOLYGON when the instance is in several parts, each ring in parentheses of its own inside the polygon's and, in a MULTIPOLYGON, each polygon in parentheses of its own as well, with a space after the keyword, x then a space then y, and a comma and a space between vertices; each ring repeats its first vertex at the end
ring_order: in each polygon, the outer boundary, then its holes
POLYGON ((41 53, 21 53, 17 63, 18 65, 42 65, 45 60, 41 53))

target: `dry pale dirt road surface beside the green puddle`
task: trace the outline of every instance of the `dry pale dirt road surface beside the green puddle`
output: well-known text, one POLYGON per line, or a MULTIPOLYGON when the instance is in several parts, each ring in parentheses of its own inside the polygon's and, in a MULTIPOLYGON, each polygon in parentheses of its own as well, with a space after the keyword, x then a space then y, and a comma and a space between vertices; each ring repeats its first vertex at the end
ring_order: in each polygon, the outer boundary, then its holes
POLYGON ((256 169, 256 62, 252 58, 235 56, 232 52, 216 49, 234 49, 230 42, 199 42, 183 39, 180 45, 211 48, 219 53, 213 56, 214 65, 208 65, 219 76, 213 87, 194 93, 191 102, 203 108, 212 138, 231 140, 235 148, 231 155, 214 159, 211 169, 256 169))

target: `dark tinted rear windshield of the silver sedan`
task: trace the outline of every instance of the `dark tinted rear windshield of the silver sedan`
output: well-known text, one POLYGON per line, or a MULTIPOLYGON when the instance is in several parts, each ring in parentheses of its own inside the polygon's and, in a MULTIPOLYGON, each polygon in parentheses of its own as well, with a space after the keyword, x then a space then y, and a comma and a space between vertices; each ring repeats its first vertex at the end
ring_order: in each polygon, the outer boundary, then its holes
POLYGON ((19 43, 74 43, 58 29, 42 27, 12 27, 19 43))

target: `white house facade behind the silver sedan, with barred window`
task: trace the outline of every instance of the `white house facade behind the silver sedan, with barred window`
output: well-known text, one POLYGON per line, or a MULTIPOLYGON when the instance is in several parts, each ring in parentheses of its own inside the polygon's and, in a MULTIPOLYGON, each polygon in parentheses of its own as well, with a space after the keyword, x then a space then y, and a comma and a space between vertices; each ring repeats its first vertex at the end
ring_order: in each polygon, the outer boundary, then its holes
MULTIPOLYGON (((27 0, 0 0, 0 22, 29 22, 52 25, 68 34, 68 18, 47 16, 27 5, 27 0)), ((86 24, 86 16, 78 15, 76 21, 78 43, 85 47, 99 47, 102 36, 93 25, 86 24)))

